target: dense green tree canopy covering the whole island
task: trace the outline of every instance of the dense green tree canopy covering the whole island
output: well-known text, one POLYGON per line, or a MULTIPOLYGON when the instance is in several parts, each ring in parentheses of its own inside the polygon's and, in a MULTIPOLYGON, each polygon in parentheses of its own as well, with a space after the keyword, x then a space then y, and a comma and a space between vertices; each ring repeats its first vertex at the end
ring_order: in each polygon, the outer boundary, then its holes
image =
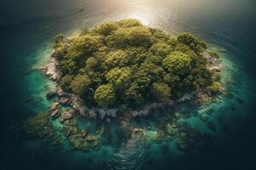
MULTIPOLYGON (((134 107, 202 88, 215 93, 219 75, 202 55, 205 42, 190 33, 177 37, 139 20, 105 21, 77 37, 55 37, 61 87, 90 106, 134 107)), ((211 52, 217 58, 218 54, 211 52)))

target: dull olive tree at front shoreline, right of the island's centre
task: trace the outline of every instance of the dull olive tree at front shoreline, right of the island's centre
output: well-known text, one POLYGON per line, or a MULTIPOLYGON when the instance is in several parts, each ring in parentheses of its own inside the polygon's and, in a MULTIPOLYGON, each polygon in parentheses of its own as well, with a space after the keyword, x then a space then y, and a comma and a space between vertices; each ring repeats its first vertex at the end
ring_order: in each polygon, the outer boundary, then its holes
POLYGON ((152 84, 152 93, 159 101, 167 101, 170 99, 171 88, 165 83, 154 82, 152 84))

